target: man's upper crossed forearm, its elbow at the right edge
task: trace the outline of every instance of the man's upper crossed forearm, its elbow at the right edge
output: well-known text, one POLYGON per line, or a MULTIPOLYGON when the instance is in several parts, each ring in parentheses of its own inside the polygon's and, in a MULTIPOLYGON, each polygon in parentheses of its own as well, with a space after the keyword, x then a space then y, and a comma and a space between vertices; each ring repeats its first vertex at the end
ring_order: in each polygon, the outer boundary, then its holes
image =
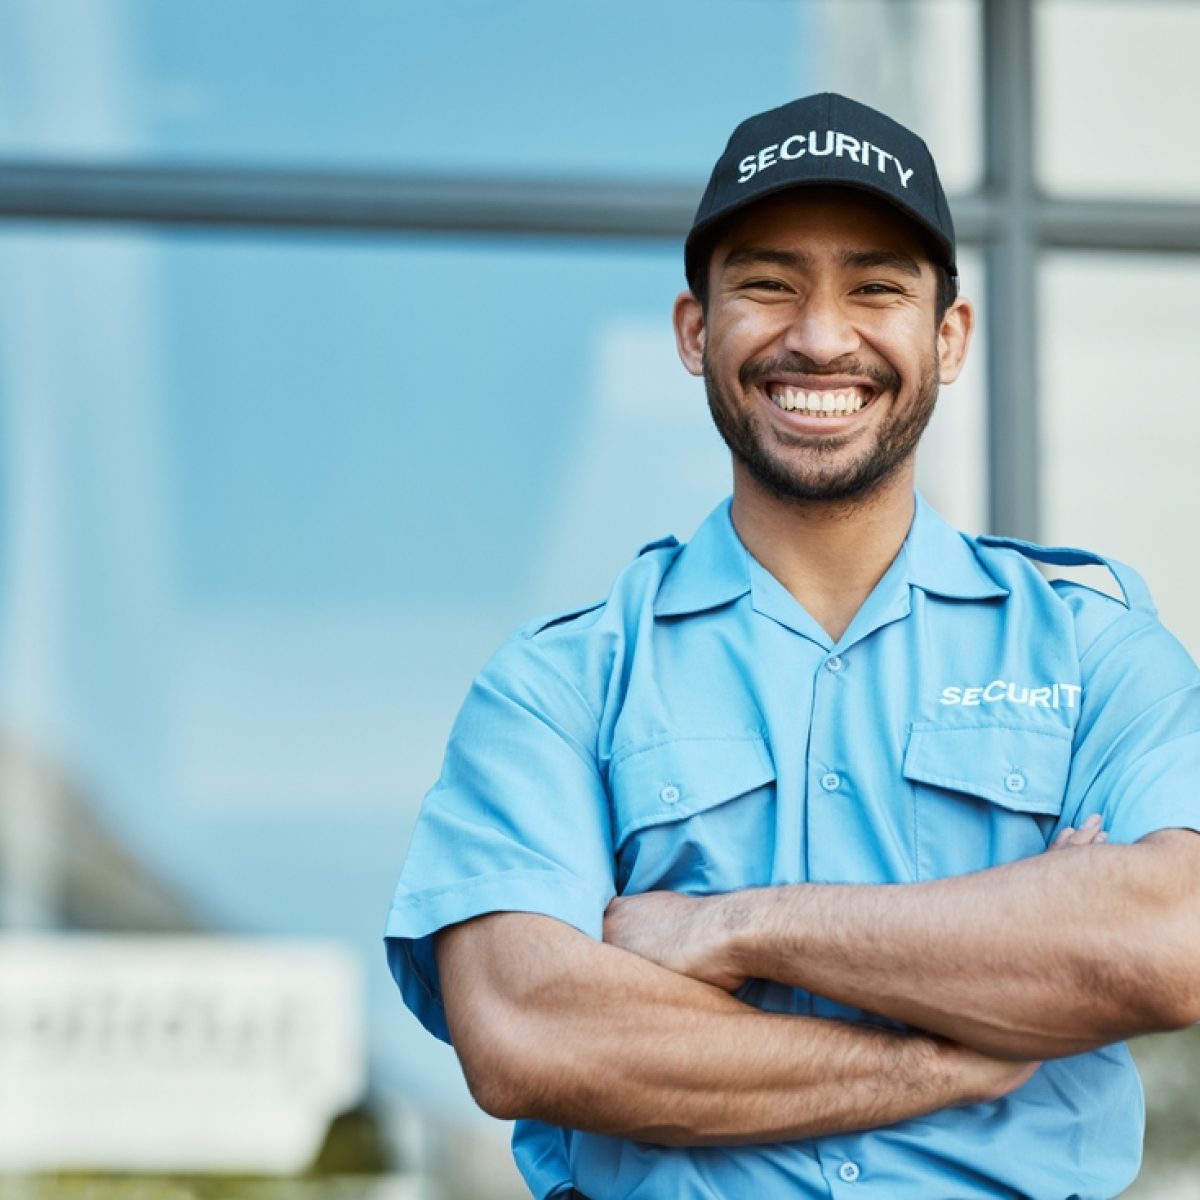
POLYGON ((1056 1057, 1196 1019, 1194 835, 931 883, 721 898, 746 974, 989 1054, 1056 1057))

